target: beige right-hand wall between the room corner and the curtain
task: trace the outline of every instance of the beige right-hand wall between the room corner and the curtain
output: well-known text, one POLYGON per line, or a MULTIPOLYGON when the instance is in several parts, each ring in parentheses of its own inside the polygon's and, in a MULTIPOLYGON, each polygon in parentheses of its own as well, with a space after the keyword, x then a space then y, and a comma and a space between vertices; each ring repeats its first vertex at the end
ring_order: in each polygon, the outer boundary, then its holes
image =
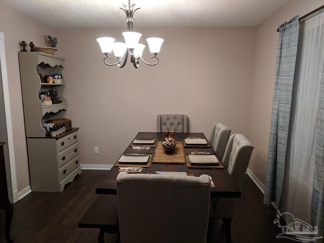
POLYGON ((272 95, 278 26, 296 15, 303 15, 317 9, 322 0, 293 0, 256 30, 255 66, 251 118, 251 142, 255 145, 249 168, 265 183, 268 159, 272 95))

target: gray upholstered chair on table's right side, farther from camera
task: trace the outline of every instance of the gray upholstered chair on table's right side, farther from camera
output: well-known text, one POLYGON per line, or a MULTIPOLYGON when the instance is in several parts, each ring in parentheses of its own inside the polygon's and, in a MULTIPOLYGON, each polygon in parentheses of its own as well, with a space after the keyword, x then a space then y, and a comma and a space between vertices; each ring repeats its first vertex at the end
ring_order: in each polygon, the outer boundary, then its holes
POLYGON ((231 129, 222 123, 215 123, 212 127, 209 142, 218 158, 222 161, 231 129))

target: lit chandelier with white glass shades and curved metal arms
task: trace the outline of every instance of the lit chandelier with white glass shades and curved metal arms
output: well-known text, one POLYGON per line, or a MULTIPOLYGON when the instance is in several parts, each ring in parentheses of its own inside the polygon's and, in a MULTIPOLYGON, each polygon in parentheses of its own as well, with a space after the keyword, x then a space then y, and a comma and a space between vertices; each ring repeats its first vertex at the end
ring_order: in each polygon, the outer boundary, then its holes
POLYGON ((153 55, 151 58, 154 58, 155 62, 145 62, 142 58, 142 53, 145 48, 145 45, 138 43, 142 34, 133 32, 133 15, 135 11, 140 8, 134 10, 135 4, 132 4, 131 6, 130 0, 128 0, 128 6, 126 6, 125 4, 123 4, 123 6, 124 9, 120 9, 126 13, 125 21, 127 23, 127 32, 123 32, 125 43, 114 42, 115 39, 111 37, 97 38, 97 42, 100 45, 101 51, 106 56, 103 59, 104 63, 108 66, 117 65, 119 68, 122 68, 125 66, 128 56, 130 56, 131 63, 133 63, 135 68, 139 68, 139 60, 142 60, 142 62, 150 66, 156 65, 158 63, 158 58, 156 57, 156 55, 160 52, 160 48, 162 43, 164 42, 164 39, 156 37, 146 39, 150 49, 150 53, 153 55), (113 52, 113 55, 117 58, 117 61, 115 63, 107 62, 108 58, 112 59, 112 57, 110 56, 111 52, 113 52))

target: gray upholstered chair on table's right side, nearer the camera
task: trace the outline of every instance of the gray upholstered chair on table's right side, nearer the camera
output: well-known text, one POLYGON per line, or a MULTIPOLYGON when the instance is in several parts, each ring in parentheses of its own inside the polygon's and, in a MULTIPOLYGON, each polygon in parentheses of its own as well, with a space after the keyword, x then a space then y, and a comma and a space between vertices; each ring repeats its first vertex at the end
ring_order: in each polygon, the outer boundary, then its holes
MULTIPOLYGON (((253 148, 251 142, 242 134, 233 134, 228 140, 223 165, 239 189, 242 187, 253 148)), ((211 199, 210 218, 223 220, 227 243, 231 242, 231 221, 234 216, 235 206, 236 198, 211 199)))

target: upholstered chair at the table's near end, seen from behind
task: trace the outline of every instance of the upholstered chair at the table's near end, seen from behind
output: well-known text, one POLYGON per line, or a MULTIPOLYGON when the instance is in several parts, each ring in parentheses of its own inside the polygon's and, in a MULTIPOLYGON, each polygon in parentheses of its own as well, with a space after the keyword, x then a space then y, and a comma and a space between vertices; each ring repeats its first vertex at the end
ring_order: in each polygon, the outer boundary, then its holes
POLYGON ((117 176, 122 243, 206 242, 210 206, 208 175, 117 176))

